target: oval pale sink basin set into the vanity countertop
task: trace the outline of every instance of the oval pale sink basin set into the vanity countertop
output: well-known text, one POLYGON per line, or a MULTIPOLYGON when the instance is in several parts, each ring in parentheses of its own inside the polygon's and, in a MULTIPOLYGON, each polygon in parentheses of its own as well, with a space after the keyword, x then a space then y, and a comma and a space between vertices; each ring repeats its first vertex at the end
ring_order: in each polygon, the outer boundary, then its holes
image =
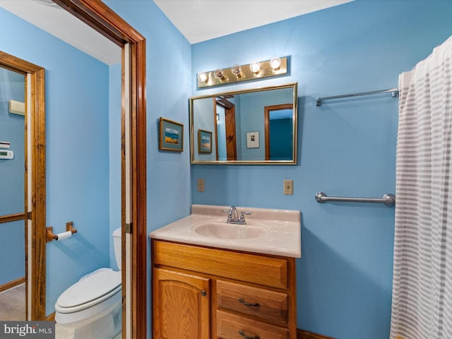
POLYGON ((220 239, 254 239, 263 237, 267 230, 253 225, 228 224, 227 222, 203 222, 193 228, 194 232, 203 237, 220 239))

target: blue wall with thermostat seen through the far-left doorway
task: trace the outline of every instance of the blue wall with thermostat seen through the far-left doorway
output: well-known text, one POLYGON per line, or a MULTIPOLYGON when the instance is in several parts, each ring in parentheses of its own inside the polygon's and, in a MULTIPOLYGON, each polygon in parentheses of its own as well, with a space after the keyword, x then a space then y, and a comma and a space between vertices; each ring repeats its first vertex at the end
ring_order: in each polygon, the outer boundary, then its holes
MULTIPOLYGON (((9 113, 9 100, 25 102, 25 76, 0 69, 0 141, 11 160, 0 160, 0 216, 24 212, 24 117, 9 113)), ((0 148, 4 150, 4 148, 0 148)), ((25 222, 0 223, 0 285, 25 277, 25 222)))

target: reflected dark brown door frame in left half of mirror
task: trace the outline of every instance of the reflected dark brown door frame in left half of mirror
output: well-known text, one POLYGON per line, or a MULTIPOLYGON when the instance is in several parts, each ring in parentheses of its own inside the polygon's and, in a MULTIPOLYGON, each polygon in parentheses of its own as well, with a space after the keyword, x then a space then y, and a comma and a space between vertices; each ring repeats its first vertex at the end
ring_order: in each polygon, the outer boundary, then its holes
MULTIPOLYGON (((229 97, 232 97, 230 95, 229 97)), ((225 116, 225 140, 226 140, 226 159, 221 160, 237 160, 237 141, 235 138, 235 105, 227 100, 227 97, 217 97, 215 100, 216 109, 222 109, 225 116)), ((215 114, 216 115, 216 114, 215 114)), ((220 139, 221 140, 221 139, 220 139)), ((222 143, 220 143, 222 144, 222 143)), ((218 160, 218 159, 217 159, 218 160)))

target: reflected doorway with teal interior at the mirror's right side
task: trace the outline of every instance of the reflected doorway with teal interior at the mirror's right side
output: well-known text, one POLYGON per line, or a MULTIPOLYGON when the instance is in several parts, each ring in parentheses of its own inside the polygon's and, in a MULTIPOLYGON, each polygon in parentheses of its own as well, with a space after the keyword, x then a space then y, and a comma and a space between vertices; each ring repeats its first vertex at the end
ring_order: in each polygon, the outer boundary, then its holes
POLYGON ((292 112, 291 103, 264 107, 266 160, 292 159, 292 112))

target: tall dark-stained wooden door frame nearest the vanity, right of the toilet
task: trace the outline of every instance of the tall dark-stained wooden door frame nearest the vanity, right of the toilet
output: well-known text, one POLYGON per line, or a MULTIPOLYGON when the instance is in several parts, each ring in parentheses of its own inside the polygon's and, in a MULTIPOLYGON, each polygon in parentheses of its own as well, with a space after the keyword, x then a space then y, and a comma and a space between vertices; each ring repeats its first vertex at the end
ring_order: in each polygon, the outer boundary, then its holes
MULTIPOLYGON (((123 311, 131 310, 131 338, 146 338, 147 274, 146 274, 146 88, 145 88, 145 38, 114 13, 100 0, 53 0, 73 16, 100 32, 122 49, 122 95, 121 95, 121 244, 124 254, 126 233, 131 243, 131 295, 126 298, 126 261, 122 261, 123 311), (125 49, 128 49, 125 52, 125 49), (129 62, 126 64, 125 55, 129 62), (127 69, 126 69, 127 67, 127 69), (127 78, 126 78, 127 77, 127 78), (126 85, 127 84, 127 85, 126 85), (130 121, 126 121, 130 112, 130 121), (126 131, 126 126, 130 126, 126 131), (130 145, 126 145, 126 132, 130 134, 130 145), (130 150, 130 165, 126 164, 126 148, 130 150), (126 172, 130 169, 131 185, 126 186, 126 172), (131 194, 131 222, 126 225, 126 189, 131 194)), ((129 206, 127 206, 129 208, 129 206)), ((45 230, 45 227, 43 231, 45 230)), ((45 246, 45 234, 44 234, 45 246)), ((45 249, 45 247, 44 247, 45 249)), ((45 277, 45 274, 44 274, 45 277)), ((45 290, 45 289, 44 289, 45 290)), ((124 314, 124 313, 123 313, 124 314)), ((126 319, 123 317, 123 328, 126 319)), ((126 338, 126 331, 122 332, 126 338)))

